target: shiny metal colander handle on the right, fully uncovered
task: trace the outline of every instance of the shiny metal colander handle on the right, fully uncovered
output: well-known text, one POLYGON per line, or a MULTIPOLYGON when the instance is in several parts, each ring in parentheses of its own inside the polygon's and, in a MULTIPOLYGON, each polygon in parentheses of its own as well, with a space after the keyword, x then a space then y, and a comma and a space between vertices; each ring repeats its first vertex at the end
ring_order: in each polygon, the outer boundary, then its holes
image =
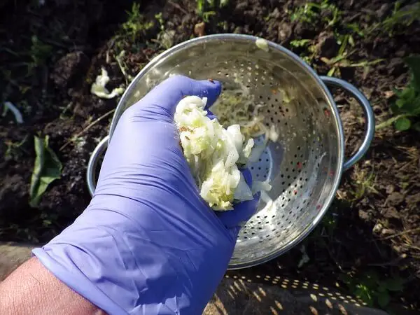
POLYGON ((344 162, 343 168, 346 170, 355 165, 358 160, 363 158, 363 155, 365 155, 370 143, 372 142, 374 137, 374 114, 372 106, 370 106, 370 103, 365 95, 347 81, 339 78, 332 78, 330 76, 321 76, 321 80, 323 80, 323 83, 327 86, 341 87, 349 92, 357 100, 358 104, 362 106, 363 112, 365 113, 365 139, 363 139, 363 143, 358 148, 357 152, 349 158, 349 160, 344 162))

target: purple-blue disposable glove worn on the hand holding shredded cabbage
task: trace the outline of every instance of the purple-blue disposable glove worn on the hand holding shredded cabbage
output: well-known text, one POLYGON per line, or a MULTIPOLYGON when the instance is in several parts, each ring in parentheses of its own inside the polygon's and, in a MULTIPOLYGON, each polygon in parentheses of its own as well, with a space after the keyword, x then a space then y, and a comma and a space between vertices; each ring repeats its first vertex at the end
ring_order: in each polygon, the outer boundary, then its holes
MULTIPOLYGON (((125 111, 83 214, 33 253, 109 314, 201 314, 223 278, 239 224, 258 197, 216 214, 179 145, 176 104, 212 104, 221 84, 172 76, 125 111)), ((250 179, 250 174, 245 172, 250 179)))

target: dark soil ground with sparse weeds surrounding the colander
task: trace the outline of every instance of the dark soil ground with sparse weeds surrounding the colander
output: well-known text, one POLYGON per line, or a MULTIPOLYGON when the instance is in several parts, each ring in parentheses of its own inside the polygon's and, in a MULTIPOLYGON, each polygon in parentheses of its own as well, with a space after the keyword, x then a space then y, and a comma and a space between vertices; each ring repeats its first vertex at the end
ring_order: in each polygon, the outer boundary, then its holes
MULTIPOLYGON (((415 1, 399 2, 410 8, 415 1)), ((127 84, 130 78, 116 62, 122 50, 125 71, 134 76, 159 52, 201 34, 261 36, 305 57, 321 75, 335 67, 334 76, 365 92, 378 123, 391 117, 393 89, 404 87, 409 79, 402 58, 420 52, 418 17, 409 26, 384 27, 395 8, 386 0, 329 1, 333 6, 315 9, 316 16, 306 11, 303 18, 296 16, 305 2, 297 0, 230 0, 204 14, 197 13, 197 3, 191 0, 141 1, 137 15, 130 13, 132 1, 118 3, 0 0, 1 101, 13 102, 24 119, 19 125, 10 113, 0 118, 3 241, 48 241, 90 201, 87 161, 108 133, 110 111, 118 103, 117 98, 104 100, 90 94, 90 86, 101 66, 109 71, 108 87, 127 84), (200 29, 197 24, 203 21, 200 29), (329 64, 342 53, 339 34, 352 36, 346 39, 346 62, 329 64), (50 136, 63 169, 39 207, 31 208, 36 134, 50 136)), ((363 113, 342 92, 335 97, 344 123, 346 153, 351 155, 363 137, 363 113)), ((265 265, 228 275, 282 274, 351 291, 344 276, 351 274, 360 282, 357 288, 367 286, 368 292, 376 292, 381 290, 377 284, 363 284, 364 277, 374 273, 380 279, 402 279, 402 290, 389 290, 391 302, 419 307, 418 136, 414 130, 397 132, 392 126, 376 133, 365 159, 344 174, 329 215, 304 241, 309 261, 302 267, 297 268, 302 258, 298 246, 265 265)), ((372 303, 378 301, 372 299, 372 303)))

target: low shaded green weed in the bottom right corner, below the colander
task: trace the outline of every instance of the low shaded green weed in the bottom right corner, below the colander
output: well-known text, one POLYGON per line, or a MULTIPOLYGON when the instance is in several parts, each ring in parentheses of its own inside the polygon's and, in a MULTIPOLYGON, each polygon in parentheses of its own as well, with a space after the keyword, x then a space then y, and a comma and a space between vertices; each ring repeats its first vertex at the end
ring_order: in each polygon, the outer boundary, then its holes
POLYGON ((340 279, 346 283, 350 292, 363 300, 368 306, 378 305, 386 308, 391 300, 391 292, 403 289, 404 281, 399 277, 381 279, 374 270, 366 272, 360 277, 354 274, 342 274, 340 279))

